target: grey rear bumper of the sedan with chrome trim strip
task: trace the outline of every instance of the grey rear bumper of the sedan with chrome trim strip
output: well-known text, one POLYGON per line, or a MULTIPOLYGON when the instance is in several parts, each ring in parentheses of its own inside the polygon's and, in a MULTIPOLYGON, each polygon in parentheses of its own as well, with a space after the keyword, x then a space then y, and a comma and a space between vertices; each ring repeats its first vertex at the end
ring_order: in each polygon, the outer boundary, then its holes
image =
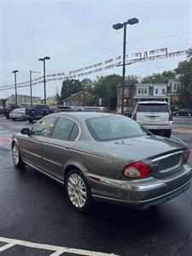
POLYGON ((189 189, 192 169, 183 166, 181 172, 168 177, 149 177, 143 181, 119 181, 101 178, 90 182, 92 196, 97 201, 108 201, 130 207, 149 207, 169 201, 189 189))

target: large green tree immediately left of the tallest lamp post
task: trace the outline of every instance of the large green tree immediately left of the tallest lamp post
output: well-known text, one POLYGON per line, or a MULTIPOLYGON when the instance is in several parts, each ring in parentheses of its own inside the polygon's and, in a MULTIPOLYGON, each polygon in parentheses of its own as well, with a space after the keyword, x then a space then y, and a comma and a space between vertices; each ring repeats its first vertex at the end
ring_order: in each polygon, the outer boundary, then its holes
POLYGON ((116 74, 105 77, 97 77, 94 81, 93 96, 98 104, 98 99, 102 98, 102 105, 111 109, 117 104, 117 85, 122 82, 122 77, 116 74))

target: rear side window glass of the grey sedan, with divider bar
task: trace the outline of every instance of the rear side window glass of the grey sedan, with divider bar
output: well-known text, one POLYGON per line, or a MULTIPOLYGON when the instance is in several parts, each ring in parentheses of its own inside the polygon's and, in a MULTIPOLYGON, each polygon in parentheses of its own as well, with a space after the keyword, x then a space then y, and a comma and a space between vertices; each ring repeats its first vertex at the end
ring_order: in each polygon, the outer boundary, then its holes
MULTIPOLYGON (((77 125, 78 126, 78 125, 77 125)), ((79 127, 76 127, 72 119, 60 118, 56 122, 52 137, 63 141, 75 141, 79 135, 79 127)))

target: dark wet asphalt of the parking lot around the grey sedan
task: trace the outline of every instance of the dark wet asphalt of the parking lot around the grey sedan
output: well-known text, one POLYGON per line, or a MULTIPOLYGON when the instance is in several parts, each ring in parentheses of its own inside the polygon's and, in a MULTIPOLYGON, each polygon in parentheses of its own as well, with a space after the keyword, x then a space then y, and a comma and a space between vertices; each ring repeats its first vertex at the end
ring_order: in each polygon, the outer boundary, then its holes
MULTIPOLYGON (((192 255, 192 187, 150 210, 96 203, 80 214, 60 184, 13 166, 11 137, 26 126, 0 117, 0 255, 192 255)), ((192 118, 175 118, 172 131, 192 152, 192 118)))

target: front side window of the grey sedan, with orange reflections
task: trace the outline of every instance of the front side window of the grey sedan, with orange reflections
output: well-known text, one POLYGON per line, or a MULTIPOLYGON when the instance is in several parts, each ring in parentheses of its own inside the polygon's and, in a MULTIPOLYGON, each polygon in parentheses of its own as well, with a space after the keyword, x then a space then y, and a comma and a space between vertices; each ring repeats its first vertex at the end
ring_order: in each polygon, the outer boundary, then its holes
POLYGON ((39 120, 32 128, 32 135, 49 137, 55 126, 55 119, 55 117, 51 116, 39 120))

